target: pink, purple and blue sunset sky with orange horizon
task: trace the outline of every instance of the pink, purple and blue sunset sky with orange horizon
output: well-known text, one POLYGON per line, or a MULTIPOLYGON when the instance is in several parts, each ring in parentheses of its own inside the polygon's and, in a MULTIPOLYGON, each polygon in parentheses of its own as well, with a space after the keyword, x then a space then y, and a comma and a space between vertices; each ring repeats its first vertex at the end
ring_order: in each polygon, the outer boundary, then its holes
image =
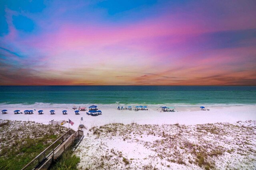
POLYGON ((256 85, 255 0, 0 0, 0 85, 256 85))

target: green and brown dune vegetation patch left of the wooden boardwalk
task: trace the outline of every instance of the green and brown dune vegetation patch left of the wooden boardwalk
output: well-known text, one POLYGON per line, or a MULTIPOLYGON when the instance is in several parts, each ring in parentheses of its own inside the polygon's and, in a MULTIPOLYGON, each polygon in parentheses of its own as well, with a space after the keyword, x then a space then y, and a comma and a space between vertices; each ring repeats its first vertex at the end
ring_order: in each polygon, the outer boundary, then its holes
POLYGON ((5 133, 0 134, 0 169, 23 168, 67 131, 65 127, 57 131, 58 125, 33 122, 8 121, 0 124, 0 129, 5 129, 5 133))

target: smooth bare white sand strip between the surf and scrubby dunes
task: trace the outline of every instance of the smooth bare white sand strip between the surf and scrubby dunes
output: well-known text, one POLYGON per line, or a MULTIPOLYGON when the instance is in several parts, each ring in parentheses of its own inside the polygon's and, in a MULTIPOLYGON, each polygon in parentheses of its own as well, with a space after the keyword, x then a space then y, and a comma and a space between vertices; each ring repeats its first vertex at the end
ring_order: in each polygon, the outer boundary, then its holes
MULTIPOLYGON (((36 108, 36 107, 34 107, 36 108)), ((23 108, 33 109, 34 108, 23 108)), ((116 107, 117 108, 117 107, 116 107)), ((80 111, 80 115, 75 115, 74 109, 72 108, 43 108, 43 115, 38 115, 38 110, 32 115, 16 114, 14 110, 22 108, 1 108, 7 109, 8 114, 0 114, 0 119, 6 120, 17 120, 17 121, 35 121, 38 123, 48 124, 51 120, 72 120, 75 124, 70 125, 70 128, 77 130, 80 124, 83 124, 90 129, 93 126, 101 126, 109 123, 138 123, 138 124, 151 124, 151 125, 162 125, 162 124, 184 124, 184 125, 196 125, 205 123, 236 123, 237 121, 248 121, 256 120, 256 105, 250 106, 214 106, 206 107, 210 111, 200 110, 199 107, 175 107, 175 112, 160 112, 157 107, 150 108, 148 110, 118 110, 113 108, 102 108, 102 115, 90 116, 86 115, 86 111, 80 111), (50 115, 50 110, 55 110, 55 115, 50 115), (67 115, 62 115, 62 110, 67 110, 67 115), (81 120, 83 117, 83 120, 81 120)), ((68 127, 68 123, 63 126, 68 127)), ((86 130, 87 133, 88 130, 86 130)))

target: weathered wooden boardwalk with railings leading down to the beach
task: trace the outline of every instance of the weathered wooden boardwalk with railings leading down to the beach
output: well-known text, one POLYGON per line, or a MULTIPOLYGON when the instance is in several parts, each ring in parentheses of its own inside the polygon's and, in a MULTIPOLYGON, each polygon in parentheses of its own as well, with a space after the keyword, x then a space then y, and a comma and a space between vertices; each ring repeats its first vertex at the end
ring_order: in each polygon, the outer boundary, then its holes
POLYGON ((47 169, 52 164, 53 160, 57 159, 78 136, 83 135, 84 132, 81 130, 76 131, 74 134, 72 134, 71 130, 68 130, 64 135, 52 143, 52 145, 24 166, 22 170, 47 169))

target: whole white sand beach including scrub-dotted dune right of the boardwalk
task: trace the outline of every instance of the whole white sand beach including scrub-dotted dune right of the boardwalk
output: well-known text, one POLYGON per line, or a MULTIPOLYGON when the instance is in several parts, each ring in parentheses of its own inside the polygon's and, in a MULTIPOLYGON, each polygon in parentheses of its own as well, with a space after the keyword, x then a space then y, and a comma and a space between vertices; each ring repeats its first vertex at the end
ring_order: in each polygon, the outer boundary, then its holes
POLYGON ((3 120, 48 124, 70 119, 74 130, 83 124, 85 136, 75 151, 80 169, 256 168, 256 105, 207 107, 209 111, 176 107, 175 112, 99 108, 98 116, 86 115, 88 110, 75 115, 72 108, 44 108, 43 115, 37 113, 40 108, 1 109, 8 110, 0 114, 3 120), (14 115, 16 109, 36 111, 14 115), (51 109, 55 115, 50 115, 51 109), (62 110, 68 114, 62 115, 62 110), (202 153, 206 157, 201 158, 202 153))

